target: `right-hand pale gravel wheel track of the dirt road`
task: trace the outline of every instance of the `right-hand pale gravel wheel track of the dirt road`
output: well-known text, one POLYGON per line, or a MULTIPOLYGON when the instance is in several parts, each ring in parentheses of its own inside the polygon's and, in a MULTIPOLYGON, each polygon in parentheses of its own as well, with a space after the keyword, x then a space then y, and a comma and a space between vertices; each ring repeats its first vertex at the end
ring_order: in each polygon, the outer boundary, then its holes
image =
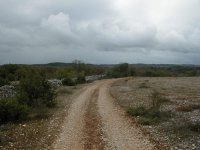
POLYGON ((154 145, 148 136, 132 124, 125 112, 114 103, 109 94, 109 86, 114 80, 108 80, 100 88, 98 107, 105 133, 106 149, 109 150, 152 150, 154 145))

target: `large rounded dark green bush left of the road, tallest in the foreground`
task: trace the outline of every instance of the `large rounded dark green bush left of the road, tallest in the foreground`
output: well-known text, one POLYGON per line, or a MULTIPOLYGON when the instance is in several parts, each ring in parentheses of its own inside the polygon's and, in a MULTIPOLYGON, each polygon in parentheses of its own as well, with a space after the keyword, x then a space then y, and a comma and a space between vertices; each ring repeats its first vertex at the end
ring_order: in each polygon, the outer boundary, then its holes
POLYGON ((56 104, 55 91, 43 74, 28 74, 20 81, 18 100, 30 107, 53 106, 56 104))

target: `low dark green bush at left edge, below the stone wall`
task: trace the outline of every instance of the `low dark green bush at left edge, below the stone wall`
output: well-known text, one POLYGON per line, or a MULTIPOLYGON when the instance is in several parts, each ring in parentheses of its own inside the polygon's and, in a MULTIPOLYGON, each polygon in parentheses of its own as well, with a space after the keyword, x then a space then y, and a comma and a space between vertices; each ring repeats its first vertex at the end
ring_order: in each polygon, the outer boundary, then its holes
POLYGON ((28 106, 20 104, 16 98, 0 100, 0 123, 25 119, 28 112, 28 106))

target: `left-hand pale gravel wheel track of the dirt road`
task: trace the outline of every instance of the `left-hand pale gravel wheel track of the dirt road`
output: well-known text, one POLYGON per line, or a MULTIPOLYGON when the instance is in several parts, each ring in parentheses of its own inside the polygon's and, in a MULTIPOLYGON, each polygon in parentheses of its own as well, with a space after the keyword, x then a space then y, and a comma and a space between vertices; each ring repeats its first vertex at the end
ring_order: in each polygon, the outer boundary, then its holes
POLYGON ((84 117, 91 99, 91 93, 96 86, 87 87, 83 93, 75 98, 69 109, 69 115, 64 119, 60 137, 54 144, 55 150, 82 150, 84 149, 84 117))

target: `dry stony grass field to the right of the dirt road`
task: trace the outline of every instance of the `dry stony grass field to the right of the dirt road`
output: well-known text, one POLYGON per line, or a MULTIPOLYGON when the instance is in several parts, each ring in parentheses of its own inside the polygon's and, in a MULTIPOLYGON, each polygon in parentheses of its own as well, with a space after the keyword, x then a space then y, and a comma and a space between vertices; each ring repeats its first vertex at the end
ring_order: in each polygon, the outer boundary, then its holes
POLYGON ((126 78, 110 90, 154 140, 185 150, 200 149, 199 91, 200 77, 126 78), (152 111, 155 100, 159 108, 152 111))

